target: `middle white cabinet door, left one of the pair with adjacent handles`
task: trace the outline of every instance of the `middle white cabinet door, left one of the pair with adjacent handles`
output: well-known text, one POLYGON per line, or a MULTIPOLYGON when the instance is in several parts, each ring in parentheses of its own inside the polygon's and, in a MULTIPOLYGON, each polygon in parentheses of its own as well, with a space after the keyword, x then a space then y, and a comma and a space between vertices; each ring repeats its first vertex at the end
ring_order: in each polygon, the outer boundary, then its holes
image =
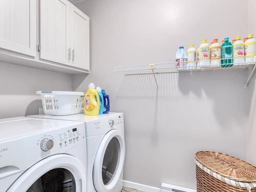
POLYGON ((40 58, 69 65, 68 0, 40 0, 40 58))

